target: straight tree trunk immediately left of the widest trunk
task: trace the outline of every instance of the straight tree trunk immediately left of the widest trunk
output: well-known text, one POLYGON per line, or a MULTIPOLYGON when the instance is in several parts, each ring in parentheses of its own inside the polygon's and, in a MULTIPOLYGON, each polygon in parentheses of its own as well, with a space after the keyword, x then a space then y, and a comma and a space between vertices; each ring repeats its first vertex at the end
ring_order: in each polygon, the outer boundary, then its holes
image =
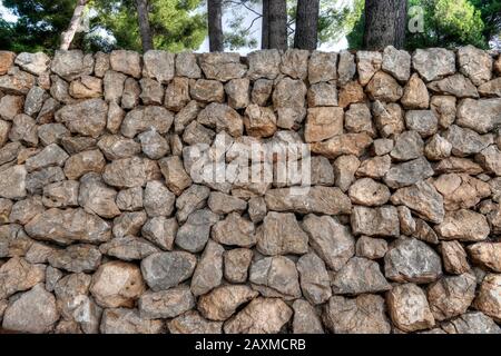
POLYGON ((315 50, 318 42, 320 0, 298 0, 294 48, 315 50))

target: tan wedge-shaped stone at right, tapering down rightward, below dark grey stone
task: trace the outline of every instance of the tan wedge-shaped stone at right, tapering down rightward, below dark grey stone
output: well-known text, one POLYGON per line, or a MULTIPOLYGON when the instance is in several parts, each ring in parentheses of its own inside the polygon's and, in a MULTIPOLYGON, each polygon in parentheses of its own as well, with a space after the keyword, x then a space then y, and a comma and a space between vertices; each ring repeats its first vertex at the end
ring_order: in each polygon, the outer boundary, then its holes
POLYGON ((443 197, 426 181, 400 188, 393 194, 391 201, 394 205, 404 205, 419 217, 435 224, 442 222, 445 215, 443 197))

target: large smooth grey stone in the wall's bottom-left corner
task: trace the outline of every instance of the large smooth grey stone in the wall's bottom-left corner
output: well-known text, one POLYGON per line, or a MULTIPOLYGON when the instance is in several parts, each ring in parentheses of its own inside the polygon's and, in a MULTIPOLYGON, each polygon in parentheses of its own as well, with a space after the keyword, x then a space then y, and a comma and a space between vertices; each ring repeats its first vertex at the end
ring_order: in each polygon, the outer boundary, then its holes
POLYGON ((56 298, 39 284, 9 305, 3 315, 2 327, 21 333, 45 334, 52 330, 58 319, 56 298))

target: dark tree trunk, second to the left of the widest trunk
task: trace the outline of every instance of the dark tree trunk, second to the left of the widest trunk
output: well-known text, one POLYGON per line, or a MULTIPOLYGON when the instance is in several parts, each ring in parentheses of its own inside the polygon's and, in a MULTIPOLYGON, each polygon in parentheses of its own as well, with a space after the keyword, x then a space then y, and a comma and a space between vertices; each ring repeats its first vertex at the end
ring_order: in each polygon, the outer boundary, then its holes
POLYGON ((271 0, 268 6, 268 47, 287 49, 287 1, 271 0))

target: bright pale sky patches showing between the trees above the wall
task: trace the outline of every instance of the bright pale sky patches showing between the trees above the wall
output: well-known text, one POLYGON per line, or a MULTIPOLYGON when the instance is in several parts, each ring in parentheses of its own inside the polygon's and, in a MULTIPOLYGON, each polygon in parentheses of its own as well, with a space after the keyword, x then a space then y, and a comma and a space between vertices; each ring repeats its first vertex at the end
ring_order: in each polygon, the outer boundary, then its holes
MULTIPOLYGON (((261 10, 262 10, 261 6, 258 6, 258 4, 254 6, 254 10, 256 10, 257 12, 261 13, 261 10)), ((243 27, 245 27, 245 28, 249 27, 255 18, 255 14, 252 11, 244 9, 244 8, 238 9, 238 11, 240 14, 244 16, 243 27)), ((14 22, 17 19, 14 14, 9 12, 9 10, 3 7, 2 0, 0 0, 0 17, 10 22, 14 22)), ((224 16, 223 16, 224 30, 229 30, 228 23, 232 21, 232 17, 233 17, 232 11, 224 12, 224 16)), ((256 48, 247 48, 247 47, 239 48, 238 50, 236 50, 237 52, 245 56, 248 52, 261 48, 261 26, 262 26, 262 20, 258 19, 254 22, 254 26, 250 29, 250 36, 257 40, 257 47, 256 48)), ((346 38, 342 38, 338 42, 323 43, 320 49, 324 50, 324 51, 340 51, 345 48, 347 48, 347 40, 346 40, 346 38)), ((202 46, 198 48, 197 52, 208 52, 208 51, 209 51, 209 43, 208 43, 208 37, 207 37, 204 40, 204 42, 202 43, 202 46)))

